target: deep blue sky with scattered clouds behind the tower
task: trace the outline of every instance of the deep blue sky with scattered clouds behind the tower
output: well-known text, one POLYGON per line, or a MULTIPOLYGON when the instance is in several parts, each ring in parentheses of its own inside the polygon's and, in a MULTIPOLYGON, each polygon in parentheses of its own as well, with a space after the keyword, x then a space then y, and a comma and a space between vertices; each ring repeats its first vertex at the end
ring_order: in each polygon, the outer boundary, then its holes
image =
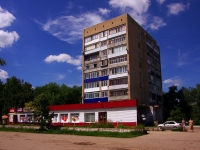
POLYGON ((200 83, 199 0, 0 0, 0 79, 81 85, 82 30, 129 13, 161 49, 163 90, 200 83))

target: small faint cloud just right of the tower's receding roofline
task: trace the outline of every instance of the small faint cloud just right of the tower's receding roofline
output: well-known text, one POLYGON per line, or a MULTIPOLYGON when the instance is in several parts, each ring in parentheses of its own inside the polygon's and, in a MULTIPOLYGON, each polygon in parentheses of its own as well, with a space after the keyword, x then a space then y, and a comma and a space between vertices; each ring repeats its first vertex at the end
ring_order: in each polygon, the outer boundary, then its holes
POLYGON ((158 30, 160 27, 166 26, 167 24, 163 21, 162 18, 154 16, 153 22, 150 23, 149 27, 151 30, 158 30))

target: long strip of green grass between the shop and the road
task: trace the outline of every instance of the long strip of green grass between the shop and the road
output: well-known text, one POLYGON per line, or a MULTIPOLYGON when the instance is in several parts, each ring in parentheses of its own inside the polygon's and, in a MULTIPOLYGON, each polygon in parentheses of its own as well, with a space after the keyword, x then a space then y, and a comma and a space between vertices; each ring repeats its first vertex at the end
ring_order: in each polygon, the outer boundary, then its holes
POLYGON ((131 131, 131 132, 76 131, 76 130, 69 130, 69 129, 60 130, 59 128, 54 128, 50 130, 0 128, 0 131, 40 133, 40 134, 68 134, 68 135, 115 137, 115 138, 133 138, 133 137, 142 136, 145 134, 141 131, 131 131))

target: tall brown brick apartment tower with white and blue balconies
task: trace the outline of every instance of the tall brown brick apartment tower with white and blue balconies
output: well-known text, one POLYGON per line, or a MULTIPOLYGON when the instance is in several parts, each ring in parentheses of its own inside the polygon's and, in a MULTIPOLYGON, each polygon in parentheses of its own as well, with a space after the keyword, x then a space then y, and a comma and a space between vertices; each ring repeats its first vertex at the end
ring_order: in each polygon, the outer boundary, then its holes
POLYGON ((83 30, 83 103, 137 99, 138 122, 162 120, 157 42, 128 14, 83 30))

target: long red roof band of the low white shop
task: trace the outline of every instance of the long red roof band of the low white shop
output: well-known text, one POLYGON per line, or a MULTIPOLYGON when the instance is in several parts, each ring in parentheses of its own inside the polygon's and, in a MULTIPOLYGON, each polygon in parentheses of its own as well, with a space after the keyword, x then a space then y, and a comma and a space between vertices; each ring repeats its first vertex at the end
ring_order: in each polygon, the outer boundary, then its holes
POLYGON ((137 106, 137 100, 122 100, 112 102, 99 102, 87 104, 68 104, 68 105, 53 105, 49 106, 50 111, 59 110, 90 110, 90 109, 104 109, 104 108, 124 108, 137 106))

